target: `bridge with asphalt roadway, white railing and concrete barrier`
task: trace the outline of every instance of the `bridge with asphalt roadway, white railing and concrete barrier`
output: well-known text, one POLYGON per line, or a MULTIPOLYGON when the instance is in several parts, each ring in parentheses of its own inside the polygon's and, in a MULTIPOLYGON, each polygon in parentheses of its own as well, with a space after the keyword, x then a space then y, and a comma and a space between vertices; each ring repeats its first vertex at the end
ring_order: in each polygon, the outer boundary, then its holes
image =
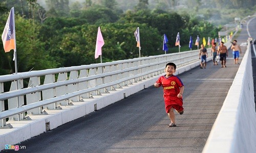
MULTIPOLYGON (((255 24, 256 19, 248 20, 253 38, 255 24)), ((247 42, 246 30, 237 34, 240 44, 247 42)), ((193 50, 0 76, 0 149, 16 145, 24 152, 255 151, 254 50, 254 45, 242 46, 239 65, 233 64, 229 50, 227 68, 212 65, 209 57, 207 68, 199 69, 198 50, 193 50), (173 128, 166 126, 162 89, 152 86, 170 61, 177 64, 176 74, 185 85, 184 114, 176 115, 173 128), (8 82, 11 90, 6 92, 8 82)))

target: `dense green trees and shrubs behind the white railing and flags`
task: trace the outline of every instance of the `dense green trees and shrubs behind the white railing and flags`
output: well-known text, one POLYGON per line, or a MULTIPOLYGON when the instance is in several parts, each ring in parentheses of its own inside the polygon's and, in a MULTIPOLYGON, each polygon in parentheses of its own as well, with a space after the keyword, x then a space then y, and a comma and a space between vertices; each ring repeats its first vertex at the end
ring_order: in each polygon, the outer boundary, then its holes
MULTIPOLYGON (((217 1, 219 0, 214 2, 217 1)), ((167 35, 171 53, 178 52, 178 47, 174 46, 178 32, 181 50, 189 50, 189 36, 192 36, 194 41, 197 35, 200 38, 218 37, 218 31, 222 27, 216 26, 217 20, 210 21, 212 18, 226 16, 229 18, 224 19, 231 21, 233 17, 249 15, 251 11, 248 11, 248 6, 252 7, 252 10, 255 6, 255 2, 251 0, 243 3, 242 6, 250 3, 244 6, 245 9, 237 9, 240 1, 227 0, 227 4, 224 1, 220 2, 225 5, 214 3, 214 6, 206 7, 204 1, 197 0, 194 4, 194 1, 189 1, 188 5, 194 7, 187 13, 184 9, 177 9, 177 2, 173 0, 123 0, 118 3, 115 0, 46 0, 46 7, 42 7, 43 5, 38 2, 0 2, 1 32, 4 30, 11 7, 15 9, 18 72, 29 71, 32 68, 40 70, 99 63, 99 58, 94 59, 98 27, 105 41, 102 47, 103 62, 138 57, 134 37, 137 27, 140 27, 142 57, 164 53, 163 34, 167 35), (221 11, 224 10, 223 6, 230 8, 225 9, 224 15, 221 11), (204 14, 204 17, 199 18, 196 14, 204 14)), ((0 75, 13 73, 13 50, 5 53, 2 41, 0 46, 0 75)))

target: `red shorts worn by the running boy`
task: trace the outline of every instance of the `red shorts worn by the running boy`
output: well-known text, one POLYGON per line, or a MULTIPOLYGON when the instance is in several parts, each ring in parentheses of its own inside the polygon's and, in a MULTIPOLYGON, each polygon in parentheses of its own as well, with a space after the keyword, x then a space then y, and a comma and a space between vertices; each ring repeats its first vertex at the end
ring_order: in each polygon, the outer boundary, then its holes
POLYGON ((175 96, 168 96, 168 97, 164 97, 164 104, 165 104, 165 111, 166 113, 168 113, 170 108, 174 108, 177 111, 183 111, 183 100, 182 98, 179 97, 175 97, 175 96))

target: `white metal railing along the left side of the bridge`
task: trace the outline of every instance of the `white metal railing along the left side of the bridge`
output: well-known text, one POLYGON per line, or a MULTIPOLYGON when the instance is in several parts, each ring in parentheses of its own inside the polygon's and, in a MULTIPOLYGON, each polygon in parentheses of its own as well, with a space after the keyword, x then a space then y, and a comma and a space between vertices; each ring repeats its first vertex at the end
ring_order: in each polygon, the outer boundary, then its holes
MULTIPOLYGON (((208 49, 209 53, 209 49, 208 49)), ((6 119, 26 120, 26 115, 46 114, 61 109, 72 101, 108 93, 108 91, 138 82, 163 72, 167 62, 177 68, 198 61, 198 50, 165 54, 91 65, 20 72, 0 76, 0 126, 6 119), (24 80, 28 80, 24 87, 24 80), (42 80, 44 83, 41 84, 42 80), (16 81, 18 88, 16 90, 16 81), (4 86, 10 84, 10 91, 4 86), (8 103, 5 110, 4 103, 8 103)))

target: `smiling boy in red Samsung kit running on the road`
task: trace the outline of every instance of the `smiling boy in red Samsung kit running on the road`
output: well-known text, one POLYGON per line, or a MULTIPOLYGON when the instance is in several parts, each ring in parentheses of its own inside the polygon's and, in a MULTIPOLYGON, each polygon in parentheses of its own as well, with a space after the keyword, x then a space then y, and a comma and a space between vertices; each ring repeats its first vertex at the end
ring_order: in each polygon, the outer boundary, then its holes
POLYGON ((165 111, 170 118, 170 124, 168 124, 168 127, 175 127, 176 124, 174 109, 180 115, 183 114, 182 94, 184 91, 184 85, 180 78, 174 75, 176 71, 176 65, 174 63, 166 64, 164 71, 166 72, 166 74, 161 76, 154 84, 154 86, 163 86, 165 111))

